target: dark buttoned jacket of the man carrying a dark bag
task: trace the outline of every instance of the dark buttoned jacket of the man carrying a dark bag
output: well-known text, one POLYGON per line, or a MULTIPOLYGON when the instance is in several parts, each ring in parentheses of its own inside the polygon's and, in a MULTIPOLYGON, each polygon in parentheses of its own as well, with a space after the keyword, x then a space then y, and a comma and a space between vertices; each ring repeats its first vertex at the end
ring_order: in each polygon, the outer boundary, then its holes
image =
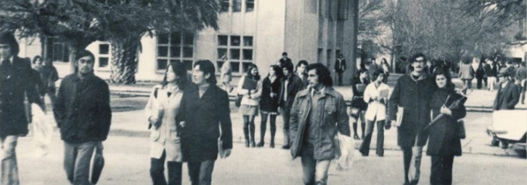
POLYGON ((61 138, 69 143, 99 142, 110 132, 112 110, 108 84, 91 74, 64 77, 53 105, 61 138))

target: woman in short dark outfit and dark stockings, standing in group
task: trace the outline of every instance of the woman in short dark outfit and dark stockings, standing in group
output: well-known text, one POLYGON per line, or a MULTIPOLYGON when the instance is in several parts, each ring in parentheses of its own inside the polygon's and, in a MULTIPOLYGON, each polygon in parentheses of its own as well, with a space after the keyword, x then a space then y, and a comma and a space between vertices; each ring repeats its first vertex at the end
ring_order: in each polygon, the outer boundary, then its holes
POLYGON ((276 115, 278 114, 278 94, 280 93, 280 78, 282 70, 279 66, 272 65, 269 75, 262 82, 262 93, 260 99, 261 123, 260 123, 260 143, 257 147, 264 146, 265 132, 267 129, 267 117, 271 125, 271 143, 269 147, 275 148, 276 115))

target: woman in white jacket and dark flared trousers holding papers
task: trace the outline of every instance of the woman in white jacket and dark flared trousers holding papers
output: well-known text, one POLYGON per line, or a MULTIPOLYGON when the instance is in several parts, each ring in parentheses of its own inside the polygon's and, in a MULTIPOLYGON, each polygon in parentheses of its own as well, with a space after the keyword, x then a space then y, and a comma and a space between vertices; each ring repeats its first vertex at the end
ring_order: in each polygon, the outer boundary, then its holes
POLYGON ((388 102, 389 87, 384 81, 384 72, 377 70, 372 74, 372 83, 364 90, 364 101, 368 102, 366 110, 366 136, 359 147, 363 156, 369 154, 369 144, 372 141, 373 127, 377 122, 377 156, 384 156, 384 127, 388 129, 389 124, 386 120, 386 103, 388 102))

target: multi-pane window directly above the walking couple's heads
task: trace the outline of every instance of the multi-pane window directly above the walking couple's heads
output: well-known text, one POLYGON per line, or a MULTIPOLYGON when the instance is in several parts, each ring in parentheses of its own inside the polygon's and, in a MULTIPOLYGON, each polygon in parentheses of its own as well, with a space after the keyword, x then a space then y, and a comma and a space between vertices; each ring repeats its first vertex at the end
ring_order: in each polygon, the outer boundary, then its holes
POLYGON ((169 61, 180 61, 187 70, 194 62, 194 34, 189 32, 161 33, 157 36, 157 70, 164 72, 169 61))

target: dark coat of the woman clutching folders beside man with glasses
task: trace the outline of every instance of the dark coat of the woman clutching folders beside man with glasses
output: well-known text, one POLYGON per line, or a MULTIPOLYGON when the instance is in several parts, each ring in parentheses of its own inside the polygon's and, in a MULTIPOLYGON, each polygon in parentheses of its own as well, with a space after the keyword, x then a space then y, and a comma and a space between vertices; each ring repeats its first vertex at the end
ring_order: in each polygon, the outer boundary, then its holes
MULTIPOLYGON (((441 107, 449 95, 455 96, 455 86, 437 89, 430 99, 432 117, 440 114, 441 107)), ((461 139, 459 137, 458 119, 465 117, 465 106, 453 109, 452 115, 443 116, 430 127, 426 155, 431 156, 461 156, 461 139)))

